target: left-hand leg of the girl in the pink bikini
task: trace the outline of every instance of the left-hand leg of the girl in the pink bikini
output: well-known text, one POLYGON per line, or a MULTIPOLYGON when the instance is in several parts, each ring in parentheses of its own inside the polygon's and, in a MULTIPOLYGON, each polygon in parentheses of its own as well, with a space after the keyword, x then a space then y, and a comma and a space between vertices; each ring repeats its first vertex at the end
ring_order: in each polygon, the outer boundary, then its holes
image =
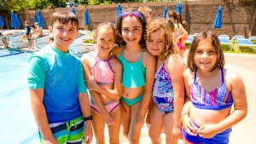
POLYGON ((91 115, 93 117, 92 126, 96 137, 96 143, 105 143, 104 140, 104 127, 105 120, 102 114, 96 112, 96 110, 90 108, 91 115))

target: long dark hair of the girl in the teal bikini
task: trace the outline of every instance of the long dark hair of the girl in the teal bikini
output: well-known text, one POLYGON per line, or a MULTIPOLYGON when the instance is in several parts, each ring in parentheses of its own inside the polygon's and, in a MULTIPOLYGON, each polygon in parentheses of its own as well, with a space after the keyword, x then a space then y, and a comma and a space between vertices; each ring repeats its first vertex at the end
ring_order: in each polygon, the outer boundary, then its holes
MULTIPOLYGON (((123 12, 122 14, 124 13, 132 13, 134 11, 137 11, 136 9, 128 9, 128 11, 126 12, 123 12)), ((141 16, 140 17, 137 17, 137 20, 142 24, 142 27, 143 27, 143 35, 142 35, 142 38, 140 40, 140 45, 142 48, 145 47, 145 39, 144 39, 144 33, 145 33, 145 28, 146 28, 146 20, 145 20, 145 17, 143 15, 143 13, 137 11, 141 16)), ((119 44, 119 45, 125 45, 125 41, 122 37, 122 22, 123 22, 123 16, 122 14, 119 15, 119 19, 117 20, 117 24, 116 24, 116 42, 119 44)))

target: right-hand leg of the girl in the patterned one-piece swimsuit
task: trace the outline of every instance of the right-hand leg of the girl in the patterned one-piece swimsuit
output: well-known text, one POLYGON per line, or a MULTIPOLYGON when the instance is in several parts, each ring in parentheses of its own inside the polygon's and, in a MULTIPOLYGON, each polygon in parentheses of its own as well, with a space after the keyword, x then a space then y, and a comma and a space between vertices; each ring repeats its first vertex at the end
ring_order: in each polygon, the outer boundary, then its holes
POLYGON ((177 137, 172 135, 173 112, 169 112, 165 115, 164 128, 166 132, 166 144, 177 144, 177 137))

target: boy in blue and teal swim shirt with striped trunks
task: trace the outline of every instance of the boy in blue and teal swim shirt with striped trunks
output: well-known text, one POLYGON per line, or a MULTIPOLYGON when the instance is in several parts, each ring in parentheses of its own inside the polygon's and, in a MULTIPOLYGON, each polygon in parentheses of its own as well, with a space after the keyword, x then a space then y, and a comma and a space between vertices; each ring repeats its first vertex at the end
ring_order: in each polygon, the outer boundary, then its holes
POLYGON ((82 143, 83 137, 90 143, 92 117, 83 67, 68 51, 79 33, 79 20, 71 11, 57 11, 52 18, 55 41, 29 60, 28 84, 39 137, 42 143, 82 143))

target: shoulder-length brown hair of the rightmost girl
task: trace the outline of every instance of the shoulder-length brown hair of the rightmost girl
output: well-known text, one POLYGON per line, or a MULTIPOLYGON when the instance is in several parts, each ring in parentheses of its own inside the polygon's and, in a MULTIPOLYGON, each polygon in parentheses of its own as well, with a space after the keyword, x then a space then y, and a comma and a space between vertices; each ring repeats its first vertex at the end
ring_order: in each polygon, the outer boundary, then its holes
POLYGON ((195 60, 194 60, 195 51, 198 47, 199 42, 202 39, 206 39, 206 38, 211 39, 212 46, 213 46, 213 48, 215 48, 216 54, 217 54, 217 60, 209 72, 214 71, 216 68, 220 69, 220 68, 224 67, 224 64, 225 64, 224 53, 220 47, 218 36, 216 36, 212 32, 201 32, 194 37, 194 40, 191 43, 191 48, 189 49, 188 67, 189 67, 189 70, 192 72, 195 72, 195 69, 197 68, 197 66, 195 65, 195 60))

